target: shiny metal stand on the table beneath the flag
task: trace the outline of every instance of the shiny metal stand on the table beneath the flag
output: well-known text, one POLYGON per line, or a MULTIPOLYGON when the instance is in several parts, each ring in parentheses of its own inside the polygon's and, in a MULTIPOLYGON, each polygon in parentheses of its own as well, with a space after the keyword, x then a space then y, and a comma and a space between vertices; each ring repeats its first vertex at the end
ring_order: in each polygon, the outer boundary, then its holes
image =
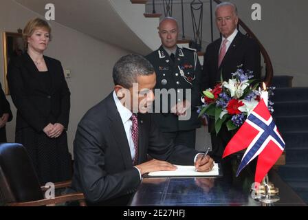
POLYGON ((269 180, 268 175, 265 175, 262 183, 256 189, 255 199, 261 203, 270 204, 280 200, 278 197, 279 189, 274 186, 269 180))

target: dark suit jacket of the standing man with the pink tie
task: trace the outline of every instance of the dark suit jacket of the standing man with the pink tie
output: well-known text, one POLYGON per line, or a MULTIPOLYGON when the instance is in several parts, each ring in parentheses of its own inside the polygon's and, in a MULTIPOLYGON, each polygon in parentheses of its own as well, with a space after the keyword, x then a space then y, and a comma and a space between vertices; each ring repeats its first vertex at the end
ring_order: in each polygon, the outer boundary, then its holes
POLYGON ((217 39, 206 48, 201 89, 213 88, 217 82, 220 82, 221 73, 224 81, 232 78, 231 74, 236 72, 237 66, 242 64, 244 71, 249 69, 254 72, 254 78, 261 79, 260 47, 254 39, 238 32, 218 68, 220 45, 221 39, 217 39))

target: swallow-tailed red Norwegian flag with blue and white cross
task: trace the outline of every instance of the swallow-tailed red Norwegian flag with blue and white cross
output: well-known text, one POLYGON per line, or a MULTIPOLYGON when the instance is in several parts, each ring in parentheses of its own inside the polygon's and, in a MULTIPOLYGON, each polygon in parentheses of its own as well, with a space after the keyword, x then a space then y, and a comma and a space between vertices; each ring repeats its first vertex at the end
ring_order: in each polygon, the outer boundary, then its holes
POLYGON ((236 176, 259 155, 254 181, 260 183, 285 148, 285 142, 263 99, 225 147, 223 158, 245 148, 248 149, 243 155, 236 176))

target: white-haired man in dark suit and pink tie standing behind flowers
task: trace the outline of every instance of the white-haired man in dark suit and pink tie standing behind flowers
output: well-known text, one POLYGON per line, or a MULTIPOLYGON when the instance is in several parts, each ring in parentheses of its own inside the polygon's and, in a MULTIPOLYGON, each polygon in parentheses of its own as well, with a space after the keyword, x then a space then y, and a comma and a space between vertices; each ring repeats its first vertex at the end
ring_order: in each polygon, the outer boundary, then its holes
MULTIPOLYGON (((254 39, 241 34, 236 29, 239 17, 237 9, 233 3, 223 2, 217 5, 216 24, 221 38, 210 43, 206 48, 203 63, 203 80, 201 89, 213 88, 223 80, 232 78, 232 73, 236 72, 239 65, 244 71, 253 71, 254 78, 261 78, 261 55, 260 47, 254 39)), ((210 120, 209 129, 212 131, 214 122, 210 120)), ((212 131, 212 155, 221 157, 223 150, 228 144, 232 133, 222 126, 218 135, 212 131)))

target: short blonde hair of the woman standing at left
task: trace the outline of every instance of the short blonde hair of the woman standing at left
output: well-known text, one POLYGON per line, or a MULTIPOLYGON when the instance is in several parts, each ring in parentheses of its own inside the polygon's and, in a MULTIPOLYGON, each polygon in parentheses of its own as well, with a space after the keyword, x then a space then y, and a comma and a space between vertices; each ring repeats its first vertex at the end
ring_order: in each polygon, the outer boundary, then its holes
POLYGON ((28 21, 28 23, 25 25, 25 28, 23 28, 23 40, 25 41, 25 43, 28 42, 28 37, 32 36, 33 32, 39 28, 47 30, 47 32, 50 33, 50 41, 52 40, 52 28, 50 28, 50 25, 47 23, 47 21, 44 21, 40 18, 34 18, 28 21))

